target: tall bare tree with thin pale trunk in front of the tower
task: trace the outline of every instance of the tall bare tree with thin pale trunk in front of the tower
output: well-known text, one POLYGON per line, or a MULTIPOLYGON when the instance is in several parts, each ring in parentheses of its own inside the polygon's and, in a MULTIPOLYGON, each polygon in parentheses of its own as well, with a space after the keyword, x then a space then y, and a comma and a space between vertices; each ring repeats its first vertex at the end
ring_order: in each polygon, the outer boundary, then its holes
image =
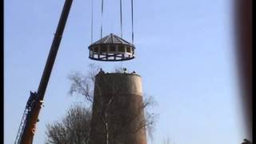
MULTIPOLYGON (((143 98, 143 103, 140 105, 141 107, 138 108, 138 110, 134 111, 134 113, 131 114, 126 114, 126 120, 125 121, 116 121, 116 119, 122 117, 122 111, 124 109, 127 109, 132 102, 125 102, 125 101, 118 101, 118 92, 122 90, 117 90, 118 88, 122 86, 116 86, 120 85, 118 82, 111 82, 112 86, 110 86, 109 90, 113 90, 113 93, 107 98, 107 102, 100 103, 99 102, 94 102, 94 86, 95 88, 102 89, 102 87, 95 83, 95 75, 99 74, 102 72, 104 73, 99 66, 90 64, 90 71, 87 74, 81 74, 79 72, 75 72, 74 74, 70 74, 70 81, 71 86, 70 86, 70 94, 79 94, 82 95, 85 99, 86 102, 90 102, 90 105, 98 105, 94 106, 94 108, 97 108, 95 113, 98 115, 98 118, 101 120, 104 129, 105 129, 105 136, 103 135, 102 137, 106 137, 106 144, 109 143, 117 143, 118 139, 122 139, 122 137, 125 137, 125 133, 122 133, 127 126, 131 122, 134 121, 134 119, 138 119, 142 114, 144 115, 144 110, 146 110, 145 113, 145 118, 139 118, 141 121, 138 122, 137 126, 134 127, 133 130, 130 130, 130 133, 136 133, 138 130, 141 130, 143 128, 146 128, 147 133, 149 134, 150 138, 152 137, 152 132, 154 130, 154 124, 156 122, 156 114, 150 113, 150 111, 147 109, 150 106, 154 106, 155 101, 153 97, 148 97, 148 95, 144 95, 143 98), (115 108, 115 102, 124 102, 122 104, 122 107, 118 107, 118 110, 115 110, 113 113, 113 109, 115 108), (99 108, 100 107, 100 108, 99 108), (120 110, 123 109, 123 110, 120 110), (119 113, 118 113, 119 111, 119 113), (114 122, 113 122, 114 120, 114 122), (119 123, 118 123, 119 122, 119 123), (118 128, 113 131, 110 130, 109 127, 112 123, 115 123, 118 128), (110 136, 112 138, 110 138, 110 136)), ((126 73, 126 69, 122 69, 121 67, 118 67, 114 70, 115 73, 126 73)), ((98 94, 100 98, 101 94, 98 94)), ((106 101, 106 100, 105 100, 106 101)), ((127 130, 126 130, 127 131, 127 130)))

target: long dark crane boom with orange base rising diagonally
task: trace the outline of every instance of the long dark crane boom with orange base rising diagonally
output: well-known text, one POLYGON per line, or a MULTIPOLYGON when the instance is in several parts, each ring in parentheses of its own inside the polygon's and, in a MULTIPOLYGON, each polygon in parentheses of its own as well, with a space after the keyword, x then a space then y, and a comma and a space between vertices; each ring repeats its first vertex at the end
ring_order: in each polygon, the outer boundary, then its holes
POLYGON ((38 115, 40 113, 46 87, 49 82, 50 73, 54 66, 54 61, 58 52, 58 47, 62 40, 62 34, 66 25, 66 20, 70 13, 70 7, 73 0, 66 0, 62 9, 61 17, 58 21, 57 30, 54 34, 54 40, 50 47, 50 53, 48 55, 45 68, 42 73, 42 78, 38 86, 37 92, 30 91, 30 97, 26 102, 26 108, 22 115, 22 121, 18 128, 18 134, 16 136, 14 144, 32 144, 35 126, 38 122, 38 115))

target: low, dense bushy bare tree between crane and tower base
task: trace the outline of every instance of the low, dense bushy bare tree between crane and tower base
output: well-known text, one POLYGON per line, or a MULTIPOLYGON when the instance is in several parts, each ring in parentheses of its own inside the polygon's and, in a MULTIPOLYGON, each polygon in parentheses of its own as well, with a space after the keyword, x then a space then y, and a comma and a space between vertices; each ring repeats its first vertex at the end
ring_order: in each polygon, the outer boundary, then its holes
POLYGON ((61 122, 46 126, 46 144, 88 144, 91 110, 80 104, 71 106, 61 122))

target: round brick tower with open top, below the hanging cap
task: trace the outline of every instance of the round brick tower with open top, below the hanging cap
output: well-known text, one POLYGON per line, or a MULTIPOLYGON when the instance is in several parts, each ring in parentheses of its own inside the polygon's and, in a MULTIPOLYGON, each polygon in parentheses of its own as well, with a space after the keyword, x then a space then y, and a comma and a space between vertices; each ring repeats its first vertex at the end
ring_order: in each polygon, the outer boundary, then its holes
POLYGON ((146 144, 142 79, 100 71, 95 76, 90 144, 146 144))

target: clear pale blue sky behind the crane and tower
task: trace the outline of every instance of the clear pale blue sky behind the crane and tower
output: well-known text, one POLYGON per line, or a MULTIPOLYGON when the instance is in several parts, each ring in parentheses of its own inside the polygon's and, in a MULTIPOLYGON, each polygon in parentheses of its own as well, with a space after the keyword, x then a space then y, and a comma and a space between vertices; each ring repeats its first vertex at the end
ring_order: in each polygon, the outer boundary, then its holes
MULTIPOLYGON (((30 90, 38 90, 64 0, 4 2, 4 142, 14 143, 30 90)), ((234 55, 232 0, 134 1, 136 58, 95 62, 91 43, 91 0, 74 0, 46 89, 34 143, 46 139, 46 124, 57 122, 81 97, 68 94, 68 75, 127 67, 142 76, 143 91, 154 96, 161 144, 241 143, 246 138, 234 55)), ((94 38, 120 35, 119 1, 94 0, 94 38)), ((130 1, 123 1, 123 38, 131 41, 130 1)))

